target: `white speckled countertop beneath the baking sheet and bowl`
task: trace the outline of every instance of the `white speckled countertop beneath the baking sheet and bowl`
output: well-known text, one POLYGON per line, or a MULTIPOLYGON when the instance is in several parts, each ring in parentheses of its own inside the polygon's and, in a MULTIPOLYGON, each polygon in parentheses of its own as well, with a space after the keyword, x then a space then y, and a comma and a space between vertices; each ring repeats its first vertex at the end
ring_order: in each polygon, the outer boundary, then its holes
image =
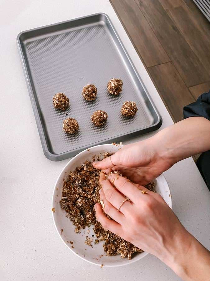
MULTIPOLYGON (((113 22, 158 111, 161 128, 173 122, 108 0, 1 1, 0 17, 0 280, 180 280, 152 255, 129 266, 102 268, 75 256, 62 243, 51 214, 55 181, 68 162, 42 151, 16 47, 19 32, 104 12, 113 22)), ((163 77, 163 79, 167 79, 163 77)), ((169 93, 170 94, 170 93, 169 93)), ((128 142, 143 139, 146 136, 128 142)), ((128 143, 124 142, 124 144, 128 143)), ((164 173, 173 210, 209 248, 210 192, 192 158, 164 173)))

